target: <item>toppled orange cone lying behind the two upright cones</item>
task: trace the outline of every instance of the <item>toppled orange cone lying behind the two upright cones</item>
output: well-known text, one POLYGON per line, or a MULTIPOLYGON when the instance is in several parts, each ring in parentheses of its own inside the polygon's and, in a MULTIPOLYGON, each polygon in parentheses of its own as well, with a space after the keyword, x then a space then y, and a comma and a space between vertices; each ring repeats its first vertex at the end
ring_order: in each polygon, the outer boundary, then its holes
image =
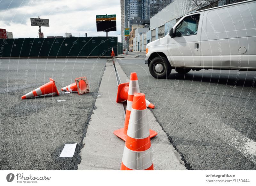
MULTIPOLYGON (((128 91, 129 91, 129 82, 119 84, 117 88, 116 103, 126 101, 128 99, 128 91)), ((155 105, 150 103, 147 99, 146 99, 146 106, 152 109, 155 108, 155 105)))

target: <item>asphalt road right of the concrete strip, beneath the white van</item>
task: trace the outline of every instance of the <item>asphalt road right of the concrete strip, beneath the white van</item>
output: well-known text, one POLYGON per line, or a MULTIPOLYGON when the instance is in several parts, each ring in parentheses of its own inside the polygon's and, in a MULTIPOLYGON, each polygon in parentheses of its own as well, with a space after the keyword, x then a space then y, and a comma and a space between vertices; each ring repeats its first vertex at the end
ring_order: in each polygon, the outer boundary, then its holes
POLYGON ((143 56, 117 60, 128 77, 137 72, 140 91, 156 106, 151 112, 189 169, 256 169, 255 71, 172 70, 161 80, 143 56))

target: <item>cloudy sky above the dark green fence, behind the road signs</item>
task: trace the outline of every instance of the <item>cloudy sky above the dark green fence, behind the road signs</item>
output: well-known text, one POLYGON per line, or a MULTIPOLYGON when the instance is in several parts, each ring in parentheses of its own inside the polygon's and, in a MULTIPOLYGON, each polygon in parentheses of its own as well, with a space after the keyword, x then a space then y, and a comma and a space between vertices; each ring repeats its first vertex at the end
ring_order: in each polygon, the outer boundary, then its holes
POLYGON ((13 38, 38 37, 39 27, 30 18, 49 19, 50 27, 41 27, 46 36, 106 36, 96 32, 96 15, 116 14, 116 30, 109 36, 121 41, 120 0, 0 0, 0 28, 13 33, 13 38))

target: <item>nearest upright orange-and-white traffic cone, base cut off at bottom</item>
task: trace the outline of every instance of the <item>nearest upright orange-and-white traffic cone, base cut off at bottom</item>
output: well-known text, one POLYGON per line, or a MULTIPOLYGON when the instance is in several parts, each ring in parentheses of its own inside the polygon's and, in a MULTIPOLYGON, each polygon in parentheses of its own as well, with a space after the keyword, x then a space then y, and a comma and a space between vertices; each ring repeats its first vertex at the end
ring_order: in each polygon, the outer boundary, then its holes
POLYGON ((145 94, 135 93, 121 170, 154 170, 145 94))

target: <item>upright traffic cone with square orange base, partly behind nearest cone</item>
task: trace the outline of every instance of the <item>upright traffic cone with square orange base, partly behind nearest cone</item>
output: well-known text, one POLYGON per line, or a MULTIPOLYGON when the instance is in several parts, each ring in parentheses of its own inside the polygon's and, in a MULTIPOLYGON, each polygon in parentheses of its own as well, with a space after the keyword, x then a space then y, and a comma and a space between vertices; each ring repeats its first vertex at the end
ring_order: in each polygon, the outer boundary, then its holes
MULTIPOLYGON (((127 90, 127 88, 125 88, 125 89, 127 90)), ((124 141, 126 141, 127 129, 128 129, 130 114, 131 114, 131 110, 132 110, 133 95, 134 95, 134 93, 139 93, 139 92, 140 92, 140 88, 139 88, 137 74, 135 72, 132 72, 131 77, 130 77, 130 83, 129 83, 126 113, 125 113, 125 120, 124 120, 124 128, 120 128, 113 132, 117 137, 121 138, 124 141)), ((156 131, 151 130, 151 129, 149 129, 149 131, 150 131, 150 138, 157 135, 156 131)))

